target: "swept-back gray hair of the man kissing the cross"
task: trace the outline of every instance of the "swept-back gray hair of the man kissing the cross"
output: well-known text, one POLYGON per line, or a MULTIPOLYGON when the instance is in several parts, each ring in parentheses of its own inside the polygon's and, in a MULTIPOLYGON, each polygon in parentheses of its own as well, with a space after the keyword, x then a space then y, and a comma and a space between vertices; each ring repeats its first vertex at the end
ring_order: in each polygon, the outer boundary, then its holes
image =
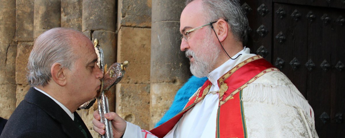
POLYGON ((51 66, 71 69, 77 56, 73 54, 73 36, 81 32, 71 28, 53 28, 42 33, 34 42, 28 61, 27 79, 31 87, 46 86, 51 79, 51 66))

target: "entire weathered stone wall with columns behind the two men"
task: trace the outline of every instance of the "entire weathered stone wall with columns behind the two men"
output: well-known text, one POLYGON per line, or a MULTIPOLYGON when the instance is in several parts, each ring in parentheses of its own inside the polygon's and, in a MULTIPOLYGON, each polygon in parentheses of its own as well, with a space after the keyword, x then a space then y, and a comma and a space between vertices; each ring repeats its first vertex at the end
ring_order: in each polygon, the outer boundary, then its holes
MULTIPOLYGON (((74 28, 97 38, 105 62, 129 61, 112 88, 110 110, 152 129, 190 76, 179 51, 183 0, 0 0, 0 116, 8 119, 30 86, 26 65, 33 41, 54 27, 74 28), (151 31, 152 24, 152 31, 151 31), (151 38, 151 36, 153 36, 151 38), (151 43, 152 41, 152 43, 151 43), (151 85, 152 84, 152 85, 151 85)), ((80 110, 92 130, 93 110, 80 110)))

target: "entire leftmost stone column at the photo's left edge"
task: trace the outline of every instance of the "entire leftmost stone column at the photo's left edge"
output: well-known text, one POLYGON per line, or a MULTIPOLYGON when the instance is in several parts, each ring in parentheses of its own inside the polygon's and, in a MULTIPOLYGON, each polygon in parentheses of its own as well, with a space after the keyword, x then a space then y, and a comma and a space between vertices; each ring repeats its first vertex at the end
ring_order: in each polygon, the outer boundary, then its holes
POLYGON ((0 117, 8 119, 16 108, 16 1, 0 0, 0 3, 0 117))

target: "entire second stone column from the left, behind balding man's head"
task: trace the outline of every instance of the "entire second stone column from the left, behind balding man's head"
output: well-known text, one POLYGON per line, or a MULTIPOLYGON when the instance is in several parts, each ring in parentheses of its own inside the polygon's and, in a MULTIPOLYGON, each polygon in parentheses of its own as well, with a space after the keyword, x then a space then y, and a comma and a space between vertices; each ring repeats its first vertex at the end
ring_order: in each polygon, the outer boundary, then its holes
POLYGON ((17 0, 16 1, 16 54, 14 58, 16 72, 16 106, 24 99, 30 86, 27 85, 26 66, 28 57, 33 44, 33 17, 34 17, 34 0, 17 0))

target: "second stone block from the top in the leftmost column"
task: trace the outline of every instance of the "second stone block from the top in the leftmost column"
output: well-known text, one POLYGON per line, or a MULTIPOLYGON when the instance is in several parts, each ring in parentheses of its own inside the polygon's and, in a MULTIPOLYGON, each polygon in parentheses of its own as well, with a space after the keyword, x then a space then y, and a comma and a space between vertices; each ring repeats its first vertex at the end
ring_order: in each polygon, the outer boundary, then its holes
POLYGON ((16 44, 0 45, 0 84, 16 83, 16 44))

